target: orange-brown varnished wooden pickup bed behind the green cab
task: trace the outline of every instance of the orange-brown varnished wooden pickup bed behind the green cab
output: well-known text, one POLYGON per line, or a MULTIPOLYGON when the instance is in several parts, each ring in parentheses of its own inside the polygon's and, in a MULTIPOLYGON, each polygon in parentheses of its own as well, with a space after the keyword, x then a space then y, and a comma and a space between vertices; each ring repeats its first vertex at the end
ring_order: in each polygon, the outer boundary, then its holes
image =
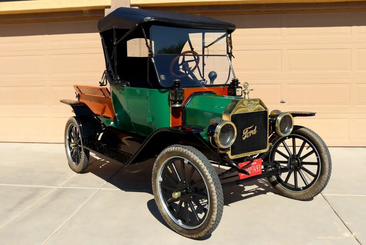
POLYGON ((111 119, 116 117, 108 88, 85 85, 74 85, 74 88, 78 93, 78 101, 84 102, 92 112, 111 119))

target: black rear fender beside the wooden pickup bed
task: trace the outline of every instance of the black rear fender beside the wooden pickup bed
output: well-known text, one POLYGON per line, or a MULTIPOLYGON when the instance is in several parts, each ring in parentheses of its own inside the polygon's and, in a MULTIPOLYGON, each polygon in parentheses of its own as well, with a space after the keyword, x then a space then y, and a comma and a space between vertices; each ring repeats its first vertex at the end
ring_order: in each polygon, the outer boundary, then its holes
POLYGON ((90 108, 80 101, 61 99, 60 102, 71 106, 74 110, 83 141, 98 140, 99 135, 105 129, 105 125, 90 108))

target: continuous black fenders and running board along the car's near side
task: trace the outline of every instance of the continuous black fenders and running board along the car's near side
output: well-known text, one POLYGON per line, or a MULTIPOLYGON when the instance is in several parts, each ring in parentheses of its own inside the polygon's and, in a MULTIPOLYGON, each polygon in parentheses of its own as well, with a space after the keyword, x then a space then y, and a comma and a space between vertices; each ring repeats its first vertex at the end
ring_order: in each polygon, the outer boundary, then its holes
POLYGON ((123 165, 146 161, 173 144, 193 146, 209 159, 217 161, 217 152, 200 134, 205 131, 204 127, 186 125, 165 127, 155 130, 147 137, 142 137, 106 126, 83 102, 72 100, 60 100, 60 102, 70 105, 74 110, 84 147, 123 165))

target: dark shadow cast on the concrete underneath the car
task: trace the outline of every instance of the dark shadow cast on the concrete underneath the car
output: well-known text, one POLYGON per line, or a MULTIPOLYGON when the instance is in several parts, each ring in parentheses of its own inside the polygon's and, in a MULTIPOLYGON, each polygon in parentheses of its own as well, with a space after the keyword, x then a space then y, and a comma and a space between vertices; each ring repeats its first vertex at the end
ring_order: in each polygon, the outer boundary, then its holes
MULTIPOLYGON (((97 156, 97 158, 99 158, 99 156, 97 156)), ((89 166, 86 169, 86 173, 92 173, 122 191, 146 192, 153 195, 152 169, 154 160, 155 158, 146 162, 122 167, 122 165, 117 162, 108 162, 102 158, 95 160, 91 157, 89 166), (109 174, 106 172, 109 172, 109 174)), ((219 169, 217 166, 214 166, 214 168, 216 169, 217 173, 225 171, 225 169, 222 167, 219 169)), ((232 178, 232 180, 237 179, 238 177, 232 178)), ((228 181, 232 180, 229 179, 228 181)), ((243 185, 235 185, 223 190, 224 206, 230 206, 232 203, 267 193, 276 194, 275 189, 273 189, 273 187, 270 185, 267 178, 246 182, 243 185)), ((158 211, 153 197, 147 201, 147 208, 160 223, 171 229, 158 211)), ((208 238, 209 237, 206 237, 205 239, 208 238)))

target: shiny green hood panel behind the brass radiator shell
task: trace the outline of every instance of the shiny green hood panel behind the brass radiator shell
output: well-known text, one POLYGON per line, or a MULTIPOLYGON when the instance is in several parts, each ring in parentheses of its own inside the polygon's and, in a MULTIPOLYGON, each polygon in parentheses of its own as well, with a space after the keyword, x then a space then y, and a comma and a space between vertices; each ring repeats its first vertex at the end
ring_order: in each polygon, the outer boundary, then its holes
POLYGON ((205 127, 202 137, 209 140, 207 130, 210 120, 214 117, 222 117, 229 103, 237 97, 202 94, 194 96, 186 106, 186 124, 205 127))

